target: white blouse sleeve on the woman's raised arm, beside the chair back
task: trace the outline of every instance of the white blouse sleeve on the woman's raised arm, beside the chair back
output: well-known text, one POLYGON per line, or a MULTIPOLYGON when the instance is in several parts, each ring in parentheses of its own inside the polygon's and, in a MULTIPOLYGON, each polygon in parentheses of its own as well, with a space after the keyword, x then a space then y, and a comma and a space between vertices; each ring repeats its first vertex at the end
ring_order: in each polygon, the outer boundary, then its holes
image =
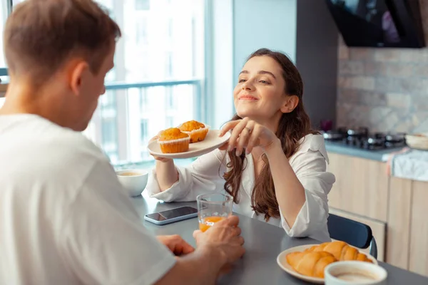
MULTIPOLYGON (((322 138, 322 137, 321 137, 322 138)), ((280 211, 281 224, 290 237, 310 237, 327 229, 327 195, 335 182, 335 175, 327 172, 327 151, 324 140, 312 139, 292 157, 290 164, 305 188, 306 201, 290 228, 280 211)))

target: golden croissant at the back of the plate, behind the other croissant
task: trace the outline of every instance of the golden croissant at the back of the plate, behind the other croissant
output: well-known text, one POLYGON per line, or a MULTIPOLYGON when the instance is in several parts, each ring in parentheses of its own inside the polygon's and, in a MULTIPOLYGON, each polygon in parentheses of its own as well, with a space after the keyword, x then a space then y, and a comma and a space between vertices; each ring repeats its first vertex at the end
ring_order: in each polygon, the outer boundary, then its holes
POLYGON ((355 247, 351 247, 346 242, 325 242, 324 244, 315 245, 306 249, 307 252, 329 252, 339 261, 357 260, 371 262, 367 255, 362 254, 355 247))

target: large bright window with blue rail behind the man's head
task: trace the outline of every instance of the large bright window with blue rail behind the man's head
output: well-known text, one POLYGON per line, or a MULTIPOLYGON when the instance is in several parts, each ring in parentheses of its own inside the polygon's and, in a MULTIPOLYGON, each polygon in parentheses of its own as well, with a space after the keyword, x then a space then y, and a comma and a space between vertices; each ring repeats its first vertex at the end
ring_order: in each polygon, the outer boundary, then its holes
MULTIPOLYGON (((107 92, 83 134, 113 164, 153 163, 147 144, 160 130, 205 121, 200 108, 205 0, 96 1, 110 11, 123 36, 115 68, 106 76, 107 92)), ((7 13, 1 1, 1 28, 7 13)))

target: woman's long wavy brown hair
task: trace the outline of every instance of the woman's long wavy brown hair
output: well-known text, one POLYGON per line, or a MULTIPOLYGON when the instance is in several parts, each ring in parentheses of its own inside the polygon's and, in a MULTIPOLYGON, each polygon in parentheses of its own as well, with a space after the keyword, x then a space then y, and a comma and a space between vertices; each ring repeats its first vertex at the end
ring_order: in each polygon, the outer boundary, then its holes
MULTIPOLYGON (((251 54, 250 58, 255 56, 269 56, 273 58, 282 68, 282 77, 285 81, 285 94, 296 95, 299 98, 297 107, 291 113, 283 113, 277 128, 276 135, 281 141, 282 150, 287 157, 291 157, 300 146, 299 140, 305 135, 316 133, 311 130, 310 118, 303 108, 303 82, 299 71, 285 54, 270 51, 267 48, 260 48, 251 54)), ((235 115, 232 120, 241 119, 235 115)), ((235 150, 228 153, 230 162, 228 167, 230 171, 224 174, 225 190, 233 197, 233 202, 238 203, 238 192, 240 182, 245 168, 245 152, 240 157, 235 155, 235 150)), ((257 214, 264 214, 265 220, 270 217, 280 217, 280 209, 275 195, 275 186, 273 185, 272 175, 270 173, 269 163, 266 155, 263 155, 263 169, 258 177, 255 177, 255 185, 251 194, 251 207, 257 214)))

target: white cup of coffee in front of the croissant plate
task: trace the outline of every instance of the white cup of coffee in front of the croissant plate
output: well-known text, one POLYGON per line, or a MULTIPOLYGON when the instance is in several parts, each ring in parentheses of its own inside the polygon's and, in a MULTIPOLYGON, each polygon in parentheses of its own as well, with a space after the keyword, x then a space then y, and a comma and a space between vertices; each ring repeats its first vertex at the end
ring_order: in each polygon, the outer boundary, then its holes
POLYGON ((387 271, 363 261, 337 261, 324 270, 325 285, 384 285, 387 271))

